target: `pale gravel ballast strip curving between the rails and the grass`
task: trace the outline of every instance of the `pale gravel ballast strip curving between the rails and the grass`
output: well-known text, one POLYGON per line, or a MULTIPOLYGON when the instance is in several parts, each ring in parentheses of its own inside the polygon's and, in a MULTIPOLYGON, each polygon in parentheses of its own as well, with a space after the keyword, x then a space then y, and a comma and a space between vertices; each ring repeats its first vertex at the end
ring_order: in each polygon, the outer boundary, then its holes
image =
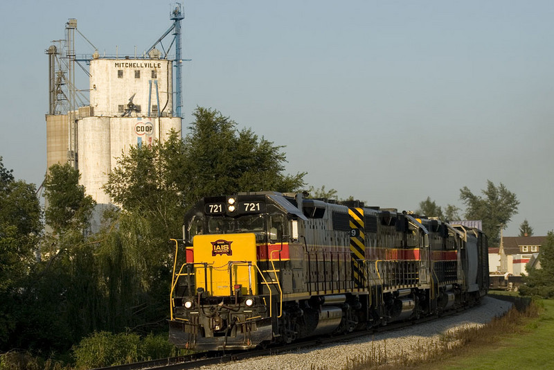
POLYGON ((363 358, 375 353, 375 349, 386 349, 387 358, 399 356, 417 356, 418 346, 423 343, 437 343, 441 335, 460 330, 461 328, 480 327, 490 322, 494 317, 501 316, 512 307, 512 303, 483 297, 481 304, 457 315, 450 315, 424 324, 388 331, 385 333, 368 334, 349 342, 324 344, 309 349, 299 349, 294 353, 283 353, 265 357, 251 358, 217 366, 202 367, 202 370, 237 369, 237 370, 267 370, 267 369, 343 369, 352 360, 363 358))

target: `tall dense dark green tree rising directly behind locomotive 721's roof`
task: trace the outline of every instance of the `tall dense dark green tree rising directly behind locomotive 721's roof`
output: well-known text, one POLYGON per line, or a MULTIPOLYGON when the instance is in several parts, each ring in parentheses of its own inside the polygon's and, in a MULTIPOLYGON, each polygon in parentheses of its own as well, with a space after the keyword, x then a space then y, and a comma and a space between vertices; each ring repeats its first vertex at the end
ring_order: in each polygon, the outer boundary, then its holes
POLYGON ((281 149, 213 109, 197 107, 186 136, 186 203, 239 191, 298 191, 305 173, 285 175, 281 149))

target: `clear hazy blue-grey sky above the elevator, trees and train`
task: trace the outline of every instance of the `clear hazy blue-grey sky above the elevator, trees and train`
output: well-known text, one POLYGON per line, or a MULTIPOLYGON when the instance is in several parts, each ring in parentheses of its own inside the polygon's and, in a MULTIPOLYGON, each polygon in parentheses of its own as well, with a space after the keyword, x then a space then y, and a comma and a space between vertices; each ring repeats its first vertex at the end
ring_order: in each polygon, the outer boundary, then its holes
MULTIPOLYGON (((44 179, 45 50, 66 21, 100 55, 132 56, 171 26, 172 8, 0 2, 0 156, 17 179, 44 179)), ((537 236, 554 229, 554 1, 188 0, 184 13, 184 134, 211 107, 339 198, 465 209, 460 189, 479 195, 490 180, 520 201, 504 236, 525 219, 537 236)))

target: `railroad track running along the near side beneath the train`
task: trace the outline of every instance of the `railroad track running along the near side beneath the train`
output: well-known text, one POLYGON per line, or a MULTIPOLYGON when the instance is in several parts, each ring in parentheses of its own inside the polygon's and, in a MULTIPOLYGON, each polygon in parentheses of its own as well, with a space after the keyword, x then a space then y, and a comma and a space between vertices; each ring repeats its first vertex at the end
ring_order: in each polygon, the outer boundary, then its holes
POLYGON ((163 370, 185 370, 195 369, 202 366, 213 364, 225 364, 228 362, 245 360, 247 358, 254 358, 267 355, 278 355, 279 353, 287 353, 291 351, 297 351, 298 349, 304 349, 311 346, 319 346, 321 344, 330 344, 337 342, 348 342, 364 335, 371 335, 375 333, 383 333, 385 331, 394 331, 409 326, 422 324, 427 321, 438 319, 439 317, 445 317, 450 315, 457 315, 459 312, 463 312, 467 308, 458 308, 456 310, 450 310, 443 312, 440 316, 433 315, 423 317, 422 319, 416 319, 413 321, 404 321, 395 324, 388 324, 386 326, 379 326, 377 328, 371 328, 367 331, 356 331, 348 333, 346 335, 339 336, 327 336, 319 338, 309 338, 307 340, 294 342, 292 344, 271 346, 266 349, 253 349, 249 351, 210 351, 203 353, 195 353, 192 355, 184 355, 175 358, 161 358, 159 360, 150 360, 144 362, 134 362, 132 364, 116 365, 112 367, 101 367, 93 370, 141 370, 141 369, 163 369, 163 370))

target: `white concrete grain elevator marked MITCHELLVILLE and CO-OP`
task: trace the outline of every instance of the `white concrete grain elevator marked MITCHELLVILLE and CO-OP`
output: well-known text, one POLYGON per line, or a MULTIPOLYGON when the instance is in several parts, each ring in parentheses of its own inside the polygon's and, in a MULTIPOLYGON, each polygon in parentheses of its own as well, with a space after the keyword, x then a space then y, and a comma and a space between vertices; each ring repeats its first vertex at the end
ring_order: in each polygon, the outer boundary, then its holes
POLYGON ((102 211, 111 205, 102 186, 116 167, 118 157, 126 154, 131 146, 163 143, 171 130, 181 132, 180 21, 183 18, 181 6, 177 4, 170 12, 172 26, 139 56, 136 53, 100 55, 96 48, 92 55, 78 56, 75 31, 80 32, 76 19, 67 22, 65 39, 53 42, 46 50, 47 166, 69 163, 79 170, 80 184, 98 203, 91 224, 93 231, 100 226, 102 211), (164 55, 156 46, 171 32, 175 55, 164 55), (88 96, 75 87, 76 67, 87 74, 88 96))

